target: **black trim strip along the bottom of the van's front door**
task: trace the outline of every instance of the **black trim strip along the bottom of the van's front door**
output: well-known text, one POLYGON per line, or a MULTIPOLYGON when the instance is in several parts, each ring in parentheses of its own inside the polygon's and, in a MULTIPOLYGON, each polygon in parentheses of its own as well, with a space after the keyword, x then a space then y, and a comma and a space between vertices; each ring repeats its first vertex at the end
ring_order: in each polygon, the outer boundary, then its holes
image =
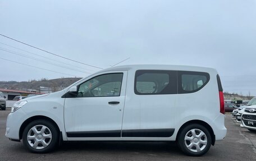
POLYGON ((121 130, 67 132, 67 137, 121 137, 121 130))

